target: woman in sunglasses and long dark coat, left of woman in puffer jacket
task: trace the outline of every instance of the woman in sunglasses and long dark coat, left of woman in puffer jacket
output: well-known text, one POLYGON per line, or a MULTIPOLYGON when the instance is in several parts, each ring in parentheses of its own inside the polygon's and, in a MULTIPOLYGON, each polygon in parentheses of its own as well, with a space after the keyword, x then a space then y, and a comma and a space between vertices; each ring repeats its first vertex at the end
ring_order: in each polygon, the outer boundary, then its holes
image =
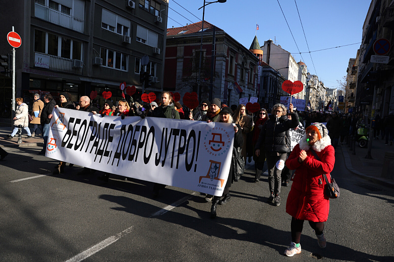
MULTIPOLYGON (((261 108, 259 111, 259 115, 257 116, 255 129, 253 130, 253 138, 252 138, 252 145, 253 145, 253 152, 255 151, 255 146, 257 140, 259 139, 260 131, 262 130, 263 124, 268 120, 268 113, 265 108, 261 108)), ((260 181, 260 175, 263 171, 263 166, 265 162, 265 151, 261 151, 259 156, 253 154, 253 160, 255 161, 255 169, 256 169, 256 178, 255 181, 260 181)))

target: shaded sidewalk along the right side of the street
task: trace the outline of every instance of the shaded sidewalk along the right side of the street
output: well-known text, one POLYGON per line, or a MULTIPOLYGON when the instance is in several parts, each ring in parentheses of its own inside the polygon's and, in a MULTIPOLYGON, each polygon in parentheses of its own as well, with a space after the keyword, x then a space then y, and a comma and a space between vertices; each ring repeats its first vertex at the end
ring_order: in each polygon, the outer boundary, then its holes
MULTIPOLYGON (((338 145, 338 147, 339 146, 342 149, 341 151, 345 159, 346 168, 350 172, 374 183, 394 188, 393 179, 381 177, 385 153, 394 152, 394 146, 385 146, 385 140, 380 139, 380 137, 379 140, 373 140, 371 150, 373 159, 365 158, 368 153, 367 148, 361 148, 356 145, 356 154, 353 154, 349 146, 345 144, 342 146, 338 145)), ((337 153, 336 157, 338 156, 340 155, 337 153)))

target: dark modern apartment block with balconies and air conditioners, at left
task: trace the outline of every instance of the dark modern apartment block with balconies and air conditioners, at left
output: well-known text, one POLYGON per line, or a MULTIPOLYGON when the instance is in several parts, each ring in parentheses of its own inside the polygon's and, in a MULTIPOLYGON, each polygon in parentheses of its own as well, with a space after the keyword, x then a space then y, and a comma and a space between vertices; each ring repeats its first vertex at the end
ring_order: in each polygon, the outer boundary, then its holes
MULTIPOLYGON (((146 91, 162 90, 168 0, 5 1, 2 8, 10 10, 3 24, 13 25, 22 37, 16 51, 17 97, 50 92, 56 98, 68 91, 77 101, 95 90, 99 104, 103 91, 111 91, 116 101, 123 82, 141 94, 144 70, 151 75, 146 91)), ((0 29, 1 35, 8 31, 0 29)), ((1 54, 9 49, 0 44, 1 54)))

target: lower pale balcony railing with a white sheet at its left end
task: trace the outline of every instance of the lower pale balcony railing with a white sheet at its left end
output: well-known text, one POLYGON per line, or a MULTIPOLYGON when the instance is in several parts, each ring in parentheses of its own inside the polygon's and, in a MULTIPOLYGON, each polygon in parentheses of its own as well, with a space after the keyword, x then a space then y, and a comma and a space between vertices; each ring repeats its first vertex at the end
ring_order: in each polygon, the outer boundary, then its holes
MULTIPOLYGON (((79 61, 79 60, 78 60, 79 61)), ((63 73, 82 74, 82 62, 80 67, 74 66, 73 59, 34 52, 34 66, 58 71, 63 73)))

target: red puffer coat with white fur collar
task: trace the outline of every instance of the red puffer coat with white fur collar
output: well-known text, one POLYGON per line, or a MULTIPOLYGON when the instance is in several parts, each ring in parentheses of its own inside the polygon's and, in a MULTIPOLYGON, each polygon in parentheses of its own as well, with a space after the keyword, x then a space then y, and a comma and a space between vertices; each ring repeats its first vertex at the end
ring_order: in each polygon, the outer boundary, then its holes
POLYGON ((321 161, 317 160, 309 149, 306 136, 294 147, 286 161, 286 166, 290 170, 296 170, 287 197, 286 212, 296 219, 325 222, 328 219, 329 199, 324 195, 326 181, 323 174, 327 174, 330 181, 329 173, 334 168, 335 150, 328 136, 316 142, 312 148, 321 161), (298 157, 302 149, 308 156, 300 164, 298 157))

